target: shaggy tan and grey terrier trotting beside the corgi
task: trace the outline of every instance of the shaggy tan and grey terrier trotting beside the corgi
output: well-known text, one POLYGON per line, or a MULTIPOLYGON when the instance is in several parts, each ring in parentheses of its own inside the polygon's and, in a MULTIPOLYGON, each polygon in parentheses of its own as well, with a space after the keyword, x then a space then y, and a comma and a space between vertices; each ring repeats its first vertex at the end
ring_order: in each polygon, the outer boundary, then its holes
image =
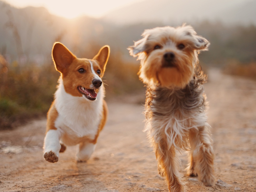
POLYGON ((184 191, 176 155, 183 149, 190 156, 187 175, 198 175, 205 186, 214 186, 214 151, 202 85, 206 76, 197 66, 199 51, 210 43, 187 25, 147 29, 142 36, 128 49, 141 60, 138 74, 147 87, 145 131, 159 173, 169 191, 184 191))

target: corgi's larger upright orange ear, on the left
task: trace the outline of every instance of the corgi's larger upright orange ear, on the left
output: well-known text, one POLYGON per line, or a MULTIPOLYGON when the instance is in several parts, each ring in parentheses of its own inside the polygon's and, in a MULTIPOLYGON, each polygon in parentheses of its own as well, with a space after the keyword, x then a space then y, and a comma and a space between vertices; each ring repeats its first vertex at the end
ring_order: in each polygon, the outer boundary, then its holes
POLYGON ((63 73, 76 58, 68 48, 60 42, 55 42, 52 47, 52 60, 57 71, 63 73))

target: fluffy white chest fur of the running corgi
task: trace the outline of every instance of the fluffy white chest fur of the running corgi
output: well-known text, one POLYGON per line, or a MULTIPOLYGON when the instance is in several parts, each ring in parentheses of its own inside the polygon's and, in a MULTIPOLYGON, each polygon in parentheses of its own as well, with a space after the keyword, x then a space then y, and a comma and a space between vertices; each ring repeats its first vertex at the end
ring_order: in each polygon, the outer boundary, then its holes
POLYGON ((62 134, 70 135, 72 140, 85 136, 93 140, 98 132, 102 116, 103 91, 100 89, 95 101, 89 101, 84 97, 74 97, 65 91, 60 79, 58 90, 55 93, 58 111, 58 118, 55 121, 57 129, 60 129, 62 134))

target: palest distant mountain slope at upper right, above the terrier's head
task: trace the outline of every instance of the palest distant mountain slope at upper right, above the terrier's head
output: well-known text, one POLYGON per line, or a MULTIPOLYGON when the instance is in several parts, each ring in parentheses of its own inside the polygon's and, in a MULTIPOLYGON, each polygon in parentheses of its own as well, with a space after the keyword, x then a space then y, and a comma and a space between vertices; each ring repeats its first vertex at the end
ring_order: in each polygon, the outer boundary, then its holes
POLYGON ((145 0, 113 10, 103 19, 115 24, 162 22, 180 25, 204 20, 226 24, 256 24, 254 0, 145 0))

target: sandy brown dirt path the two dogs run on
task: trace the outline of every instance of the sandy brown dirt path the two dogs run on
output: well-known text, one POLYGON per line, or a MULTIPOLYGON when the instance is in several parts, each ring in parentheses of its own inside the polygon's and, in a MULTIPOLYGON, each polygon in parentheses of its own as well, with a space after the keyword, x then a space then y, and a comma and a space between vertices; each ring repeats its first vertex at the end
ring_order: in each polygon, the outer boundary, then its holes
MULTIPOLYGON (((256 82, 209 70, 205 85, 216 153, 215 187, 184 177, 187 191, 256 191, 256 82)), ((109 102, 110 116, 87 163, 76 147, 48 163, 42 155, 46 120, 0 132, 0 191, 165 191, 155 155, 142 132, 143 105, 109 102)), ((180 154, 182 173, 186 154, 180 154)))

